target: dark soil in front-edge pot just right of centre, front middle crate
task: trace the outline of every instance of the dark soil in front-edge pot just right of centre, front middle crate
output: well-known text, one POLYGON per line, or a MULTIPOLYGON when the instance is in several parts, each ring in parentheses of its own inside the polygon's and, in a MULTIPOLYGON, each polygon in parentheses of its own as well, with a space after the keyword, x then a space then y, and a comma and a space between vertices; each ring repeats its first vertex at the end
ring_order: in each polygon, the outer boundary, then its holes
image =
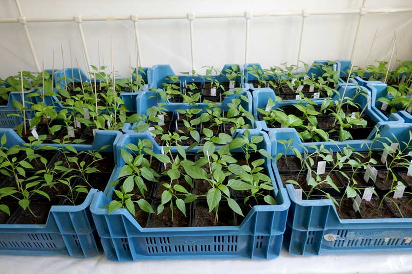
POLYGON ((209 207, 206 202, 198 202, 195 206, 193 219, 194 227, 221 227, 234 225, 233 211, 227 204, 219 204, 217 222, 215 222, 215 211, 212 210, 209 212, 209 207))

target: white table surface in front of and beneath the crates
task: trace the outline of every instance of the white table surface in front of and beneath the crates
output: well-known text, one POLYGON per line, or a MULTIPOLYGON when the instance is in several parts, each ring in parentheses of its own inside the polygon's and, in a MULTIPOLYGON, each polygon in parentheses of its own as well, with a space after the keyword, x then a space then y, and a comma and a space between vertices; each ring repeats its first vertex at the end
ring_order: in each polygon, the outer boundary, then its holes
POLYGON ((115 263, 104 255, 69 257, 0 255, 0 274, 266 274, 412 273, 412 253, 297 257, 283 251, 274 260, 164 260, 115 263))

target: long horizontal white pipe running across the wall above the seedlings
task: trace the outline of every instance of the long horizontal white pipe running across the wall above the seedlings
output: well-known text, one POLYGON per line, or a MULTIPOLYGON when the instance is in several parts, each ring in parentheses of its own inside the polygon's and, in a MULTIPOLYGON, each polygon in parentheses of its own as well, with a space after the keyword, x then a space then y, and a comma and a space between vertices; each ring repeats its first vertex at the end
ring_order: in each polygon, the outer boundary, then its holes
MULTIPOLYGON (((412 7, 405 8, 363 8, 362 11, 366 13, 403 13, 403 12, 412 12, 412 7)), ((359 14, 359 9, 346 9, 346 10, 330 10, 330 11, 310 11, 310 15, 342 15, 342 14, 359 14)), ((251 13, 253 17, 260 16, 301 16, 302 12, 300 11, 287 11, 287 12, 254 12, 251 13)), ((204 13, 196 14, 197 19, 211 19, 211 18, 242 18, 244 13, 204 13)), ((187 19, 187 14, 181 15, 169 15, 169 16, 139 16, 139 20, 167 20, 167 19, 187 19)), ((130 20, 130 16, 83 16, 82 21, 127 21, 130 20)), ((73 22, 73 17, 53 17, 53 18, 26 18, 27 23, 46 23, 46 22, 73 22)), ((0 23, 19 23, 18 18, 2 18, 0 23)))

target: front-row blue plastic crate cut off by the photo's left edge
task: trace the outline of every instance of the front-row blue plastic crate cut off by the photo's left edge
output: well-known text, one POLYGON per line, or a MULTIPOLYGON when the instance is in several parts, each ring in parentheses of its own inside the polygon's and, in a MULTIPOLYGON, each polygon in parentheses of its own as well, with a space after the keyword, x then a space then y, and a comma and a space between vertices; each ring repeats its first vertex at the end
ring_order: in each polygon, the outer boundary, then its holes
MULTIPOLYGON (((24 143, 12 129, 0 129, 6 134, 10 147, 24 143)), ((96 150, 110 145, 104 152, 113 151, 122 134, 118 131, 98 131, 92 145, 72 145, 78 151, 96 150)), ((51 144, 59 147, 57 144, 51 144)), ((42 145, 40 145, 42 146, 42 145)), ((114 172, 111 175, 111 180, 114 172)), ((0 254, 66 255, 92 257, 102 252, 99 237, 89 206, 95 194, 91 189, 78 206, 52 206, 45 225, 0 225, 0 254)))

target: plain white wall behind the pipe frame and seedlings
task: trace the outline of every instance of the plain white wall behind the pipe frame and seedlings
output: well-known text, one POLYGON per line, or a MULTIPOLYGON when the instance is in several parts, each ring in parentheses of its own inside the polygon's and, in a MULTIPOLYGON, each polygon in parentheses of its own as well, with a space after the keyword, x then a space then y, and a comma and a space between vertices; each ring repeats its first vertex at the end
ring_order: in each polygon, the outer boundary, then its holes
MULTIPOLYGON (((359 8, 362 0, 21 0, 26 17, 165 15, 194 12, 298 11, 359 8)), ((411 7, 411 0, 366 0, 365 7, 411 7)), ((0 2, 0 18, 18 17, 14 0, 0 2)), ((358 15, 309 16, 302 44, 301 60, 311 63, 319 59, 349 59, 358 15)), ((412 13, 367 14, 362 18, 356 65, 363 66, 373 40, 378 35, 370 62, 388 60, 393 31, 396 31, 399 59, 412 59, 412 13)), ((250 24, 249 62, 263 67, 283 62, 296 63, 301 17, 259 17, 250 24)), ((138 23, 142 65, 170 64, 175 72, 190 69, 188 20, 150 20, 138 23)), ((85 68, 77 23, 28 23, 35 50, 45 68, 62 67, 60 45, 63 45, 66 67, 70 65, 69 41, 73 58, 85 68)), ((98 42, 109 62, 110 36, 113 37, 115 68, 129 76, 129 55, 135 60, 133 23, 84 22, 90 62, 98 63, 98 42)), ((225 63, 244 62, 245 19, 196 19, 194 21, 195 68, 221 68, 225 63)), ((18 23, 0 24, 0 77, 20 70, 36 71, 23 26, 18 23)), ((370 63, 369 62, 369 63, 370 63)))

